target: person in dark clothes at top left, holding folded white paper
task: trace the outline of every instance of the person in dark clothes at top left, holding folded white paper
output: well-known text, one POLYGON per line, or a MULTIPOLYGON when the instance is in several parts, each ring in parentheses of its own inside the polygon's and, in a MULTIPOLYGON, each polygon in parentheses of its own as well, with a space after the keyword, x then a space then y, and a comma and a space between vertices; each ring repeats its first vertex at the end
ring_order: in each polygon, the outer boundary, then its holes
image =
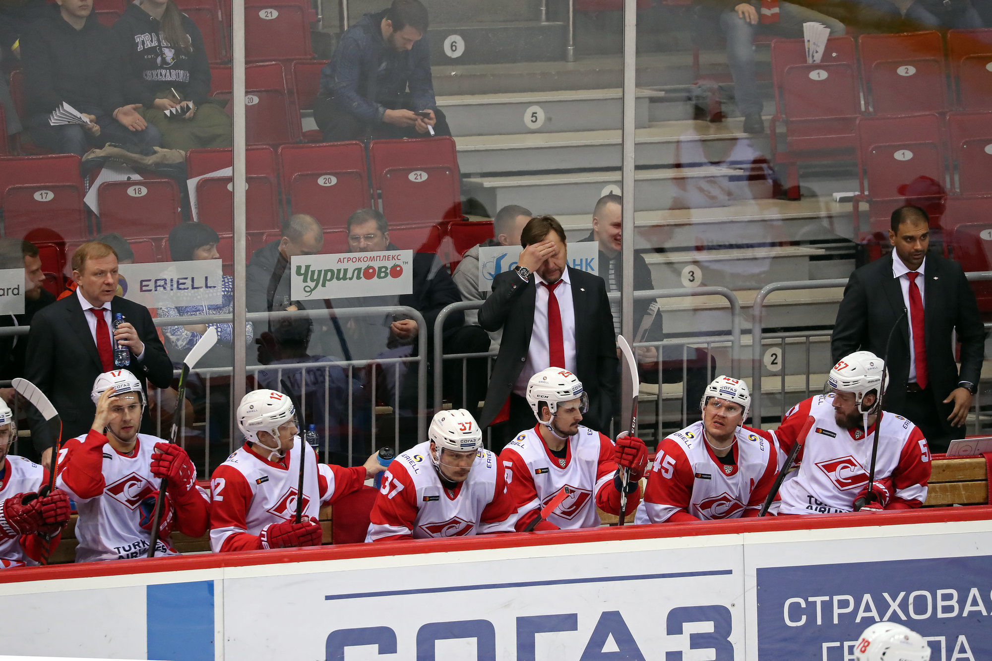
POLYGON ((92 13, 92 2, 60 0, 59 6, 58 12, 46 12, 33 23, 20 40, 28 102, 25 123, 31 138, 52 151, 79 156, 107 142, 158 145, 161 136, 155 127, 131 109, 110 107, 110 29, 92 13), (62 103, 90 123, 51 125, 49 115, 62 103), (130 122, 125 128, 114 117, 130 122))

